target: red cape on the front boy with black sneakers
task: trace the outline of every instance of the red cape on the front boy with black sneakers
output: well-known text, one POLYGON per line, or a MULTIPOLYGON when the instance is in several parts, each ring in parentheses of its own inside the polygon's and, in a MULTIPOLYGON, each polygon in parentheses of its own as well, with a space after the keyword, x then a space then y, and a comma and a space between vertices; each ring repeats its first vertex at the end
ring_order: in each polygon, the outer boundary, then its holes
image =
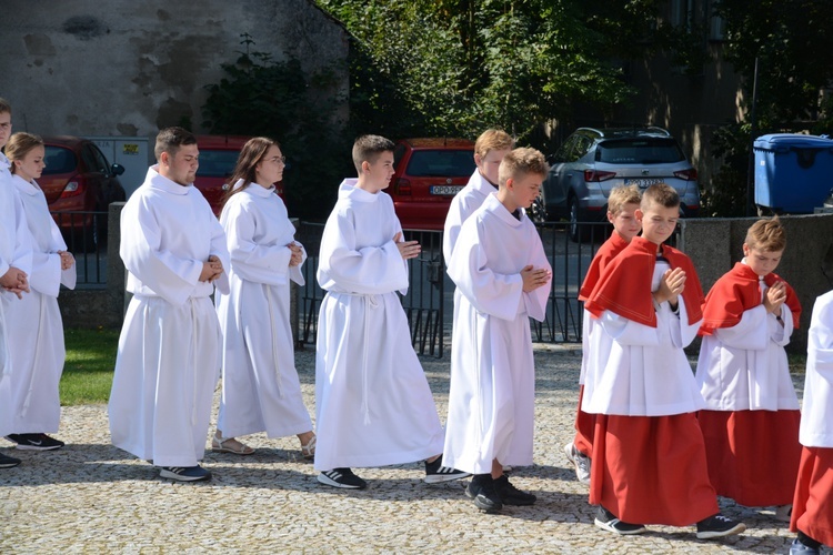
MULTIPOLYGON (((672 269, 685 272, 683 301, 689 314, 689 325, 697 323, 703 313, 703 289, 691 259, 681 251, 662 245, 662 254, 672 269)), ((651 282, 656 266, 656 244, 643 238, 633 238, 619 256, 608 264, 584 307, 595 317, 606 310, 643 325, 656 327, 651 282)))

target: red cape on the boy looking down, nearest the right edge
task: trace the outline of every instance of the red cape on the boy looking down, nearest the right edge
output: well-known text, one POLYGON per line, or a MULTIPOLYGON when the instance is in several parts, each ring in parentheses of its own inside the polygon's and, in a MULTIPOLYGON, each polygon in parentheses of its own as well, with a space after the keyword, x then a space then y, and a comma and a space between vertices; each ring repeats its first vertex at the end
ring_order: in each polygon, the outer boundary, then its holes
MULTIPOLYGON (((764 276, 764 283, 771 287, 776 281, 784 281, 777 274, 770 273, 764 276)), ((786 305, 793 313, 793 327, 799 329, 801 316, 801 303, 795 291, 786 285, 786 305)), ((734 268, 723 274, 712 286, 703 304, 703 324, 700 326, 701 335, 711 335, 720 327, 732 327, 737 325, 743 313, 761 304, 761 289, 759 278, 750 266, 743 262, 735 263, 734 268)))

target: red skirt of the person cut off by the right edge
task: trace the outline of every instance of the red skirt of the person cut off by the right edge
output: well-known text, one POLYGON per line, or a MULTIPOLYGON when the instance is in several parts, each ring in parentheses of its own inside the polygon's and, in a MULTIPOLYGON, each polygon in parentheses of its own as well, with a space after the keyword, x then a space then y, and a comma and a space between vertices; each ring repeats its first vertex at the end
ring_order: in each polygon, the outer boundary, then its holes
POLYGON ((833 448, 802 448, 790 529, 833 546, 833 448))

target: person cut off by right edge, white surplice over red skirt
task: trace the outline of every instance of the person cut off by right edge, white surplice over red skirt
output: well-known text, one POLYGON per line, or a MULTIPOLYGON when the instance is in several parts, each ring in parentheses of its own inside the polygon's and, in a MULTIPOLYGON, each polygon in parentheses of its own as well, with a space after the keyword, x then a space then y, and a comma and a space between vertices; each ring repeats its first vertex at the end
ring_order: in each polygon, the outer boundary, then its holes
POLYGON ((804 376, 803 447, 790 523, 799 537, 790 555, 833 547, 833 291, 815 300, 804 376))

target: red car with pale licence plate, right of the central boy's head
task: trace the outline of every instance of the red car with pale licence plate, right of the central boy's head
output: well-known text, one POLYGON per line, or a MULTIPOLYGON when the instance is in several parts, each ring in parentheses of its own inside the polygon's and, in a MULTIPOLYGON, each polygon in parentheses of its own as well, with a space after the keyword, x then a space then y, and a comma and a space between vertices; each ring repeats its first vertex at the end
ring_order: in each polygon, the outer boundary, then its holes
POLYGON ((385 192, 402 228, 442 230, 451 199, 474 172, 474 142, 402 139, 393 151, 395 173, 385 192))

